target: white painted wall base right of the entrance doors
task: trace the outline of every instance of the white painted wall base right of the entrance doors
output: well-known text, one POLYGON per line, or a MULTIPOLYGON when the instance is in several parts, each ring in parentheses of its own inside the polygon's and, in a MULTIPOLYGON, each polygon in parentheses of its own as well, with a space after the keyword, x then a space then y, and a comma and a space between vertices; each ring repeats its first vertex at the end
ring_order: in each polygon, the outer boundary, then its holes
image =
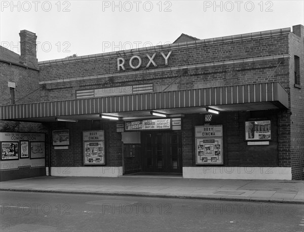
POLYGON ((291 168, 285 167, 183 167, 183 178, 291 180, 291 168))

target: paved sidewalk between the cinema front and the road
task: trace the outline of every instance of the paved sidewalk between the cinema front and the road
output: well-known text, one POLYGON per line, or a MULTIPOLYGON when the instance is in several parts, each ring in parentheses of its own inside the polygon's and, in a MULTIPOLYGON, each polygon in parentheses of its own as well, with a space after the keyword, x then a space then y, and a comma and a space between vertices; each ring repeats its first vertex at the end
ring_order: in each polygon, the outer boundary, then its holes
POLYGON ((40 176, 2 181, 0 190, 304 204, 302 180, 40 176))

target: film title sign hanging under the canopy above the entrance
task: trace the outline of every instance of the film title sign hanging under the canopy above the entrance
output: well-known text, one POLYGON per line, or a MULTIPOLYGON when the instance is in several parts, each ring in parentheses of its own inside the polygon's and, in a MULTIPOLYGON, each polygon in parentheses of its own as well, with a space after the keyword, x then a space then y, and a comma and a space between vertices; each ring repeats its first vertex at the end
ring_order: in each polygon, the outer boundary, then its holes
POLYGON ((164 130, 164 129, 171 129, 170 119, 151 119, 151 120, 125 122, 126 131, 164 130))

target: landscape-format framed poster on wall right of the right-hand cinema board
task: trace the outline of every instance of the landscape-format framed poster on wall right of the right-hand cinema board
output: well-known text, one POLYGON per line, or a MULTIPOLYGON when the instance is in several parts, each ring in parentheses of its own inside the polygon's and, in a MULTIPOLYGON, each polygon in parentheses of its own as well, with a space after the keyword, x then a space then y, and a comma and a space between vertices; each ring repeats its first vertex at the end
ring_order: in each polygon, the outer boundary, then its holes
POLYGON ((245 141, 271 141, 271 120, 246 121, 245 141))

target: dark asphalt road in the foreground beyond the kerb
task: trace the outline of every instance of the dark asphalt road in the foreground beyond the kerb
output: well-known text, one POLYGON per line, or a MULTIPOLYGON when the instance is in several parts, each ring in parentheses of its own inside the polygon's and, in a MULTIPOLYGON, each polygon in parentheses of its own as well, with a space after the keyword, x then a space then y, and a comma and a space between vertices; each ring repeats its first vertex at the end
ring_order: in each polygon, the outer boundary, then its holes
POLYGON ((1 231, 303 231, 302 204, 0 191, 1 231))

